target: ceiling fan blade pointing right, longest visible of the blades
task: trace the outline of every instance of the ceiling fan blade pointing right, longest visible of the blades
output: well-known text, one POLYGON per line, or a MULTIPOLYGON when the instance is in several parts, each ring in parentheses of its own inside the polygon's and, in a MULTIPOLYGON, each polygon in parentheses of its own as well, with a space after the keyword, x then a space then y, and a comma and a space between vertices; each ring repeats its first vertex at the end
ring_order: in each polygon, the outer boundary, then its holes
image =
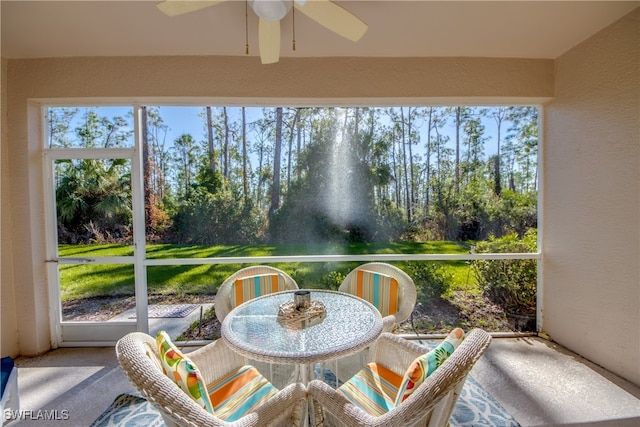
POLYGON ((354 42, 368 28, 360 18, 330 0, 295 1, 294 6, 318 24, 354 42))

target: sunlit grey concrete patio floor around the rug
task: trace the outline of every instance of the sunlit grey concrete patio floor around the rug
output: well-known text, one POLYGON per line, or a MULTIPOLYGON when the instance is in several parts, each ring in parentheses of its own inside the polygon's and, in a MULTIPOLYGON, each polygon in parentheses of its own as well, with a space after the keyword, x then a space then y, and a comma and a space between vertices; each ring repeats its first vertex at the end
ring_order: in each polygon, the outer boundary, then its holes
MULTIPOLYGON (((114 349, 61 348, 18 358, 21 409, 67 420, 11 426, 88 426, 121 393, 135 393, 114 349)), ((640 387, 538 337, 493 339, 471 375, 522 426, 639 426, 640 387)))

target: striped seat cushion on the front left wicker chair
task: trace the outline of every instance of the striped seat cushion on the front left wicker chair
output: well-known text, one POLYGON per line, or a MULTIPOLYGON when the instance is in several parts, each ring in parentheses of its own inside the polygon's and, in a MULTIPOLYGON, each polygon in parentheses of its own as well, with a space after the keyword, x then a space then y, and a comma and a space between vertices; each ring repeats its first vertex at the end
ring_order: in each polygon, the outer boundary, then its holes
POLYGON ((217 417, 236 421, 278 393, 256 368, 250 365, 231 371, 207 386, 217 417))

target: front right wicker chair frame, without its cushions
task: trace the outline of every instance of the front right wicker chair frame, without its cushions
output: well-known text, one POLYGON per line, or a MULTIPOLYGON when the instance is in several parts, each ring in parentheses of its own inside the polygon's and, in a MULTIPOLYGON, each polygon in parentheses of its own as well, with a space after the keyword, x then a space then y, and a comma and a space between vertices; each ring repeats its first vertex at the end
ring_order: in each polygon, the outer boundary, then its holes
MULTIPOLYGON (((448 425, 467 375, 490 342, 491 336, 481 329, 469 332, 453 354, 411 396, 378 417, 352 404, 342 394, 319 380, 309 383, 308 396, 314 405, 319 404, 322 408, 321 415, 316 417, 324 417, 321 421, 325 426, 444 427, 448 425)), ((385 333, 378 342, 373 361, 402 376, 411 362, 424 352, 424 347, 385 333)))

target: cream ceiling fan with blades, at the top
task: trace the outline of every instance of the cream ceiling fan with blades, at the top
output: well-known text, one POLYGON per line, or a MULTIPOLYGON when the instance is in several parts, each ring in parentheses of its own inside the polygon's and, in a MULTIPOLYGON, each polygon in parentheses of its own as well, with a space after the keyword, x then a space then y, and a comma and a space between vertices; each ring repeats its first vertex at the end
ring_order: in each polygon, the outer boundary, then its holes
MULTIPOLYGON (((227 0, 165 0, 158 9, 168 16, 182 15, 227 0)), ((358 41, 367 31, 367 24, 331 0, 246 0, 258 15, 258 46, 263 64, 280 58, 280 20, 292 7, 334 33, 358 41)))

